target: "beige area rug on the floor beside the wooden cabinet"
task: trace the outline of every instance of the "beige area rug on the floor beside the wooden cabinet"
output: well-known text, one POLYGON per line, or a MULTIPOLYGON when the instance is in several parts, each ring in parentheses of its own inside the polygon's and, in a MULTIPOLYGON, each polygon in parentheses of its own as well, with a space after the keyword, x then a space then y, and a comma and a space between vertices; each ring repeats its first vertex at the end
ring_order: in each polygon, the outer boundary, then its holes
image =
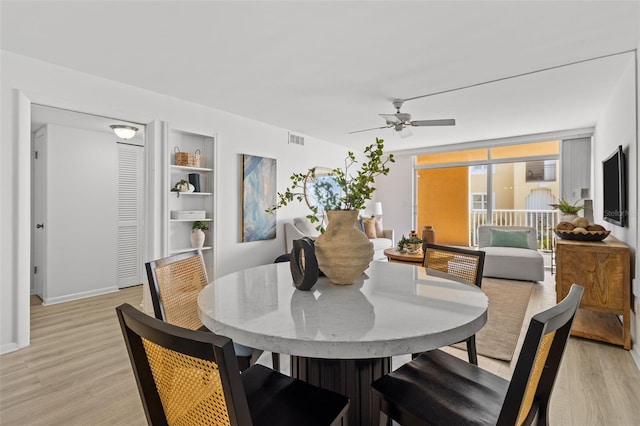
MULTIPOLYGON (((533 286, 529 281, 482 279, 482 290, 489 298, 489 316, 476 334, 478 355, 511 361, 533 286)), ((453 346, 466 349, 466 343, 453 346)))

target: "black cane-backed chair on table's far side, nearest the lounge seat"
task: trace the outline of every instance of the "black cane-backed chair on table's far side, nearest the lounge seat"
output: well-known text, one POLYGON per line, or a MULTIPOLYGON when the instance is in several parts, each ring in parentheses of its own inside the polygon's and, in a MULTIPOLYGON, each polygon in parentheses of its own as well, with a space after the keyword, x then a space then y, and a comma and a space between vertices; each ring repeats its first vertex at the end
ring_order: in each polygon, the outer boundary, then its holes
MULTIPOLYGON (((425 243, 422 246, 427 270, 437 271, 438 275, 482 287, 482 270, 485 253, 482 250, 470 250, 425 243)), ((469 362, 478 365, 476 335, 466 340, 469 362)))

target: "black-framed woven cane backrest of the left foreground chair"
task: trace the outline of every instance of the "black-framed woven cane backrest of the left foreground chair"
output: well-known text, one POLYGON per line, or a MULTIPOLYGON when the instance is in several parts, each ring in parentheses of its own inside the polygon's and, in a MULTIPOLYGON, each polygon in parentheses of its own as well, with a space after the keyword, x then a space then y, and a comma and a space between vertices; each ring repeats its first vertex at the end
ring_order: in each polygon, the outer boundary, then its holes
POLYGON ((230 339, 116 311, 149 424, 252 424, 230 339))

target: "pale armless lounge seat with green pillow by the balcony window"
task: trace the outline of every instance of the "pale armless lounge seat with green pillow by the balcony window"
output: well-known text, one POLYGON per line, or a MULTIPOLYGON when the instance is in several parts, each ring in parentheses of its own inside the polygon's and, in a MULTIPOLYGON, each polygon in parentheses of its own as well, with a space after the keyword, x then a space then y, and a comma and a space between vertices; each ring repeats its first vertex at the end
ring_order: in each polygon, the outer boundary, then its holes
POLYGON ((485 277, 507 278, 522 281, 544 280, 544 260, 538 252, 536 229, 529 226, 478 227, 478 248, 485 252, 485 277), (528 248, 501 247, 492 244, 491 230, 525 231, 528 248))

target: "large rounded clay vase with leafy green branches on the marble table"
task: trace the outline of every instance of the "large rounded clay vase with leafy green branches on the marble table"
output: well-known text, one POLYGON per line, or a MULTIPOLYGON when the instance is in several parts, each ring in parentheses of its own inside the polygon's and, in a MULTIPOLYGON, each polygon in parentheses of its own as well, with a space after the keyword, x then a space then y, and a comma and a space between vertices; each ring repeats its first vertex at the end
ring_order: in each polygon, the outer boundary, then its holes
MULTIPOLYGON (((384 140, 378 138, 375 144, 365 147, 364 156, 366 160, 360 164, 360 169, 353 171, 358 160, 349 151, 344 167, 331 170, 333 184, 322 186, 326 191, 338 188, 339 193, 317 197, 320 204, 308 203, 312 214, 307 218, 312 223, 320 222, 318 229, 322 233, 315 241, 318 267, 334 284, 352 284, 373 259, 373 244, 360 230, 358 211, 365 208, 365 202, 376 190, 375 178, 387 175, 388 164, 395 160, 393 154, 384 155, 384 140), (325 212, 328 217, 326 230, 325 212)), ((315 177, 315 173, 313 168, 307 173, 292 174, 291 186, 278 193, 278 202, 267 211, 274 212, 294 200, 306 200, 306 182, 309 176, 315 177)))

